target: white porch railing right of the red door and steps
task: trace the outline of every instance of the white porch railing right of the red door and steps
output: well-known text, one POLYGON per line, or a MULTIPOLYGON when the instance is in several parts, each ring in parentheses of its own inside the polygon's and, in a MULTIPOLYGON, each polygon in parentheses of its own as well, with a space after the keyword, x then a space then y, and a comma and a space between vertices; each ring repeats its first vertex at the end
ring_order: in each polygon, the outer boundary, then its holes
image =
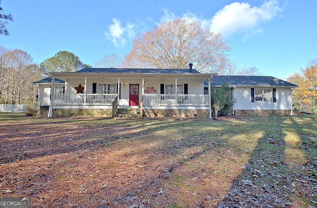
POLYGON ((155 95, 145 94, 144 106, 159 105, 191 105, 191 106, 207 106, 208 95, 155 95))

